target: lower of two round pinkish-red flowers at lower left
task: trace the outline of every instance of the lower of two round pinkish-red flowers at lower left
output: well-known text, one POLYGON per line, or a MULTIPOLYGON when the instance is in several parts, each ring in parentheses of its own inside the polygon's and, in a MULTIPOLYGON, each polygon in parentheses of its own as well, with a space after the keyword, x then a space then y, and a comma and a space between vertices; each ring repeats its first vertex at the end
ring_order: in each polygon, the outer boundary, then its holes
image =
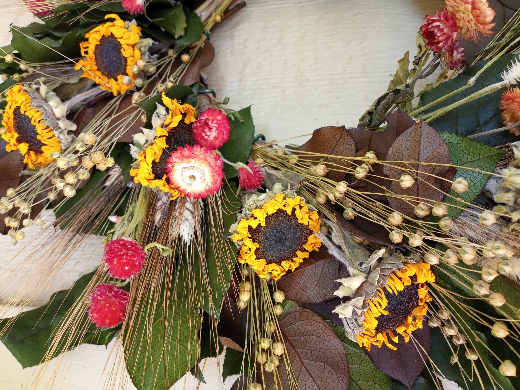
POLYGON ((88 295, 88 316, 99 328, 113 328, 125 318, 128 292, 113 284, 99 284, 88 295))

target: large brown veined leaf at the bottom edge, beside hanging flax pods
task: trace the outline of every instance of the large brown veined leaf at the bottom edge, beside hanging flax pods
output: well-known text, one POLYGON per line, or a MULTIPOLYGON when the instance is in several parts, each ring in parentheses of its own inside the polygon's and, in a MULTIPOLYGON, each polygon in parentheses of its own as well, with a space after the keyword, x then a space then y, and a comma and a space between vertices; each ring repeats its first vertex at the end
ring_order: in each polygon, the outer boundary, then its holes
MULTIPOLYGON (((280 319, 280 330, 300 390, 347 390, 348 362, 342 342, 316 313, 302 307, 287 310, 280 319)), ((273 373, 264 372, 267 390, 289 389, 284 359, 273 373)))

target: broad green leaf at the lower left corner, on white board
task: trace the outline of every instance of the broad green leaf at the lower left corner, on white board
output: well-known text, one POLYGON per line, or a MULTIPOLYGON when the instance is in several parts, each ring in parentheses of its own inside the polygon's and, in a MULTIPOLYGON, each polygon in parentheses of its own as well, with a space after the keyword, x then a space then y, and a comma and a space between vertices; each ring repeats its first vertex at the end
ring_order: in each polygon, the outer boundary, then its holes
MULTIPOLYGON (((81 296, 94 274, 95 271, 90 272, 76 280, 71 289, 53 294, 48 304, 24 311, 16 317, 12 328, 0 336, 0 341, 23 368, 40 364, 61 319, 76 299, 81 296)), ((0 329, 8 326, 9 320, 6 318, 0 321, 0 329)), ((80 344, 79 340, 72 343, 73 346, 77 344, 80 344)))

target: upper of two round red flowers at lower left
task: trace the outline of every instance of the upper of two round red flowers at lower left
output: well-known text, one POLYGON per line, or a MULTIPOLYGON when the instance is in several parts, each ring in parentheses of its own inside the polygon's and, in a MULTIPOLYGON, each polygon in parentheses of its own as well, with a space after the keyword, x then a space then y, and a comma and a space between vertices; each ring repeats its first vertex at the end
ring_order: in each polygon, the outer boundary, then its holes
POLYGON ((146 254, 136 242, 118 238, 105 244, 103 262, 112 278, 130 279, 145 265, 146 254))

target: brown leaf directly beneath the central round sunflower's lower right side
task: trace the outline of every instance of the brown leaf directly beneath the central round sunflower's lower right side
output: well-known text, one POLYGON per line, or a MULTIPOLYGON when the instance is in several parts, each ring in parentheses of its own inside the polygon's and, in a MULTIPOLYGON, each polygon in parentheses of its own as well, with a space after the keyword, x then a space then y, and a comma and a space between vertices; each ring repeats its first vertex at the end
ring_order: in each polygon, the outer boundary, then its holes
POLYGON ((333 298, 334 291, 339 288, 335 280, 347 276, 345 267, 329 255, 303 269, 298 267, 276 284, 290 301, 317 303, 333 298))

